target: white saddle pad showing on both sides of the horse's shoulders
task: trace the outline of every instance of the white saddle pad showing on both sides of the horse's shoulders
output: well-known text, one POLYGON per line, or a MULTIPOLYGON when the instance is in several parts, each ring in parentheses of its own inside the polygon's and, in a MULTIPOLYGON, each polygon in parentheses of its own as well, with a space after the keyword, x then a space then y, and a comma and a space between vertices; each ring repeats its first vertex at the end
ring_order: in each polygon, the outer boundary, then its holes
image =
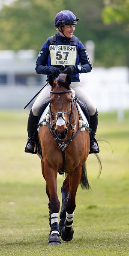
MULTIPOLYGON (((79 104, 78 104, 78 103, 76 103, 76 104, 77 104, 77 108, 78 108, 78 110, 79 110, 79 115, 81 115, 81 119, 84 121, 84 124, 89 127, 89 123, 88 123, 88 121, 87 121, 86 116, 84 115, 84 112, 82 111, 82 109, 81 109, 81 107, 79 106, 79 104)), ((46 107, 46 109, 45 109, 44 112, 42 113, 42 116, 41 116, 40 119, 39 119, 39 123, 42 122, 43 119, 45 118, 45 116, 48 114, 49 106, 50 106, 50 104, 48 104, 48 106, 46 107)), ((37 128, 38 133, 39 133, 39 128, 40 128, 40 126, 37 128)))

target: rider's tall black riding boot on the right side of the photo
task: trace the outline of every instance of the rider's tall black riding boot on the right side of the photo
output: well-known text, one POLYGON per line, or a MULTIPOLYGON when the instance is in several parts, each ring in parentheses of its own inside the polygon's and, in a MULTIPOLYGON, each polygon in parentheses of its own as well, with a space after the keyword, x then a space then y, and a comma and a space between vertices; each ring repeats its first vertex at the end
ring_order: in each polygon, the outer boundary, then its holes
POLYGON ((96 112, 93 116, 90 116, 90 128, 92 129, 92 132, 90 133, 90 152, 92 153, 99 153, 99 145, 97 143, 97 140, 95 139, 96 131, 98 126, 98 111, 96 109, 96 112))

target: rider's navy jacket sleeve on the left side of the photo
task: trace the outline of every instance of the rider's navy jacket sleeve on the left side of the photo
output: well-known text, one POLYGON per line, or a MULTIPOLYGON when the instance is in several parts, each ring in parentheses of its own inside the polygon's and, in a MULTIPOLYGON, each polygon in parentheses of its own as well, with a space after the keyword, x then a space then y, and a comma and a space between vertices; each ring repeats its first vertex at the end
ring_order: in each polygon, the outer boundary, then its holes
POLYGON ((36 61, 36 73, 49 75, 51 71, 54 69, 52 66, 48 66, 48 58, 49 58, 49 46, 48 39, 42 45, 41 50, 39 51, 39 55, 36 61), (47 66, 46 66, 47 65, 47 66))

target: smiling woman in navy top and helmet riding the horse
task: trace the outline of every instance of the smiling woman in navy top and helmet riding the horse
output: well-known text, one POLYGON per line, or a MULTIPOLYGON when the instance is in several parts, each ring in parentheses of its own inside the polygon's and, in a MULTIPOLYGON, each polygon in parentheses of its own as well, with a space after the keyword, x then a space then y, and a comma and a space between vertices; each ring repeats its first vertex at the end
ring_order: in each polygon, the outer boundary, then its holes
MULTIPOLYGON (((76 97, 86 103, 90 114, 90 128, 92 132, 89 153, 99 153, 99 146, 95 139, 98 112, 93 101, 83 90, 79 80, 79 74, 90 72, 92 67, 87 50, 78 37, 73 35, 78 20, 71 11, 63 10, 57 13, 54 19, 54 25, 57 27, 58 34, 49 37, 43 44, 36 61, 36 72, 38 74, 48 75, 48 78, 50 74, 56 78, 62 72, 70 75, 70 87, 75 91, 76 97), (63 70, 60 69, 62 65, 65 65, 63 70)), ((33 133, 36 130, 39 109, 42 102, 45 102, 50 96, 50 90, 50 84, 46 85, 30 110, 27 124, 28 140, 25 152, 34 152, 35 142, 33 133)))

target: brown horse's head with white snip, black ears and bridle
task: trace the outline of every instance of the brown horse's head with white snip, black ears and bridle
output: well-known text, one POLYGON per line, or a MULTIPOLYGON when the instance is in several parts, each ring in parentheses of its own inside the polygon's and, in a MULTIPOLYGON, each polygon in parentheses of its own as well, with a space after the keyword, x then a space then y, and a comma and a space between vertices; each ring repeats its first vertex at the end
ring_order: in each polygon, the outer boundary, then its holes
POLYGON ((55 134, 59 140, 67 136, 69 120, 72 115, 72 91, 70 90, 71 78, 69 75, 60 74, 54 81, 49 76, 51 116, 55 123, 55 134))

